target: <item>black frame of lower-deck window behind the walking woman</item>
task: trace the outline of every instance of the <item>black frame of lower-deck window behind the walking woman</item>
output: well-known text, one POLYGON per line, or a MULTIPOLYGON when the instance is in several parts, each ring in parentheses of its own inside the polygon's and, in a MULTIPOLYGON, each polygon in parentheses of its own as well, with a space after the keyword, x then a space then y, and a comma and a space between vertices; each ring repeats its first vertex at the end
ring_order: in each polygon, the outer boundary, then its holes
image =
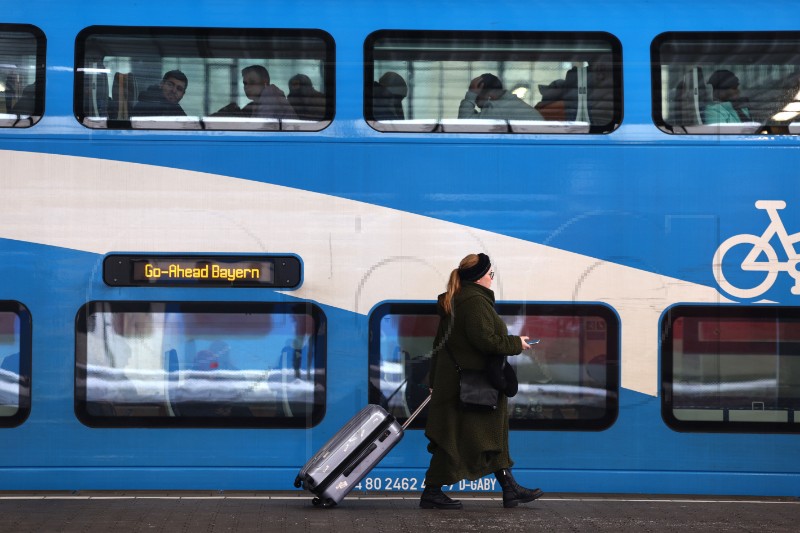
MULTIPOLYGON (((517 419, 512 416, 509 409, 509 429, 527 431, 604 431, 609 429, 619 415, 620 395, 620 320, 617 313, 609 306, 599 302, 498 302, 495 310, 501 316, 546 316, 546 317, 600 317, 606 321, 606 398, 605 415, 596 419, 517 419)), ((369 361, 367 372, 367 385, 369 402, 379 403, 376 388, 373 386, 375 372, 380 379, 380 322, 387 315, 425 315, 438 316, 436 302, 424 301, 390 301, 376 305, 368 317, 369 331, 369 361)), ((531 332, 535 336, 535 332, 531 332)), ((535 349, 535 347, 534 347, 535 349)), ((380 386, 377 387, 380 390, 380 386)), ((511 404, 513 400, 509 400, 511 404)), ((409 429, 423 429, 427 421, 427 408, 411 423, 409 429)), ((406 417, 397 417, 403 423, 406 417)))

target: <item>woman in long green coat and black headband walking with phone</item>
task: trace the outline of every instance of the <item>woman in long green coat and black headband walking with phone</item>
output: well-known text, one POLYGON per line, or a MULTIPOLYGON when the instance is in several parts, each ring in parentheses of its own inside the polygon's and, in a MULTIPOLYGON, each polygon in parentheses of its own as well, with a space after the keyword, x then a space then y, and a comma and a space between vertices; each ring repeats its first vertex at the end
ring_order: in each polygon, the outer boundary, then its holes
POLYGON ((459 405, 456 361, 462 368, 489 371, 494 364, 504 363, 505 356, 530 348, 528 337, 508 334, 495 311, 493 279, 489 256, 470 254, 450 273, 447 292, 439 295, 440 322, 430 366, 432 397, 425 426, 431 461, 420 498, 420 507, 425 509, 460 509, 461 502, 449 498, 442 486, 492 473, 503 488, 504 507, 532 502, 543 494, 522 487, 511 475, 508 395, 516 394, 516 376, 513 383, 509 377, 506 385, 496 385, 500 395, 494 411, 465 411, 459 405))

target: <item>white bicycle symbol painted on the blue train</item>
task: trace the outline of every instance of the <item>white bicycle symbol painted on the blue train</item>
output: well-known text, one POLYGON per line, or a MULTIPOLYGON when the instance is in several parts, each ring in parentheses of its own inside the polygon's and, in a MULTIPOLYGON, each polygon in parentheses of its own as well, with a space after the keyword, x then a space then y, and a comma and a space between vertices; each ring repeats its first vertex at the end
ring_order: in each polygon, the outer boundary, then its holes
POLYGON ((800 271, 798 271, 800 255, 798 255, 794 249, 795 243, 800 242, 800 233, 794 233, 792 235, 786 233, 783 221, 780 215, 778 215, 778 211, 785 207, 786 202, 783 200, 757 201, 756 209, 766 210, 770 219, 770 224, 767 226, 764 233, 761 235, 750 235, 748 233, 734 235, 717 248, 717 252, 714 254, 712 268, 714 270, 714 278, 725 292, 737 298, 756 298, 772 287, 772 284, 775 283, 775 280, 778 278, 779 272, 786 271, 794 278, 792 294, 800 294, 800 271), (775 235, 778 236, 786 252, 787 260, 784 262, 778 261, 778 254, 775 253, 775 249, 769 243, 775 235), (752 246, 753 248, 744 258, 744 261, 742 261, 742 270, 766 273, 764 281, 752 289, 742 289, 731 285, 722 273, 722 264, 725 254, 728 253, 731 248, 740 244, 752 246), (758 260, 762 253, 766 256, 766 260, 758 260))

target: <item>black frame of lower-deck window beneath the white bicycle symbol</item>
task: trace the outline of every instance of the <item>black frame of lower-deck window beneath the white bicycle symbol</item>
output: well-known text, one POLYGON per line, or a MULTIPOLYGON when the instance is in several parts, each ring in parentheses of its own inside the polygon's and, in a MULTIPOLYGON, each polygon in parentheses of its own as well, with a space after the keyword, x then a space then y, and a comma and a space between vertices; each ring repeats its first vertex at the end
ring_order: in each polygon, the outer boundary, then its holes
MULTIPOLYGON (((680 420, 673 413, 674 406, 674 324, 681 318, 719 318, 776 320, 781 316, 797 319, 800 325, 800 307, 766 306, 766 305, 692 305, 678 304, 667 309, 661 316, 659 330, 661 334, 661 418, 674 431, 686 433, 800 433, 800 407, 795 409, 795 420, 787 414, 787 422, 752 422, 733 421, 728 419, 729 408, 722 409, 723 420, 680 420)), ((684 334, 684 339, 685 339, 684 334)), ((719 343, 717 343, 719 344, 719 343)), ((800 349, 800 341, 782 344, 795 344, 800 349)), ((772 352, 768 352, 772 353, 772 352)), ((800 358, 800 355, 796 357, 800 358)), ((798 391, 800 393, 800 391, 798 391)), ((788 413, 788 410, 787 410, 788 413)))

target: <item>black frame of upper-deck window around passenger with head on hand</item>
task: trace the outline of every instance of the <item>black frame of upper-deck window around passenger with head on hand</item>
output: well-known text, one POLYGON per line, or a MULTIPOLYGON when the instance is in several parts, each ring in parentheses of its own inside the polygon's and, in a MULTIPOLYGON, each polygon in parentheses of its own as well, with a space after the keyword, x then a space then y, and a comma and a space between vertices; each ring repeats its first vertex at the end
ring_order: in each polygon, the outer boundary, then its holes
MULTIPOLYGON (((420 52, 421 54, 430 52, 420 52)), ((517 52, 519 53, 519 52, 517 52)), ((487 133, 500 133, 500 134, 522 134, 522 135, 563 135, 563 134, 610 134, 619 129, 623 122, 624 116, 624 83, 623 83, 623 50, 622 43, 613 34, 605 31, 475 31, 475 30, 393 30, 381 29, 372 32, 367 36, 364 41, 364 91, 363 91, 363 118, 365 122, 374 130, 381 133, 469 133, 469 134, 487 134, 487 133), (408 124, 407 127, 402 127, 402 122, 411 121, 397 121, 401 124, 395 126, 392 123, 386 123, 384 127, 381 121, 375 120, 373 115, 373 81, 375 79, 375 43, 379 39, 384 38, 403 38, 403 39, 418 39, 423 42, 428 40, 450 40, 450 41, 466 41, 480 39, 484 40, 497 40, 507 41, 509 45, 521 41, 529 40, 534 42, 536 39, 540 41, 545 40, 570 40, 578 41, 579 39, 597 39, 606 40, 609 44, 608 53, 611 54, 612 61, 610 69, 612 79, 615 82, 613 88, 613 116, 612 120, 603 126, 591 125, 578 126, 575 121, 558 122, 558 121, 544 121, 551 122, 552 124, 541 124, 536 126, 526 126, 524 123, 527 121, 509 121, 509 120, 485 120, 485 126, 479 125, 466 125, 464 127, 456 126, 452 131, 444 131, 442 119, 433 129, 427 124, 412 125, 408 124), (520 122, 520 124, 515 124, 520 122), (502 124, 501 124, 502 123, 502 124), (518 129, 518 131, 514 131, 518 129)), ((464 88, 466 92, 466 87, 464 88)), ((458 106, 458 102, 453 102, 453 106, 458 106)), ((469 120, 469 119, 466 119, 469 120)))

